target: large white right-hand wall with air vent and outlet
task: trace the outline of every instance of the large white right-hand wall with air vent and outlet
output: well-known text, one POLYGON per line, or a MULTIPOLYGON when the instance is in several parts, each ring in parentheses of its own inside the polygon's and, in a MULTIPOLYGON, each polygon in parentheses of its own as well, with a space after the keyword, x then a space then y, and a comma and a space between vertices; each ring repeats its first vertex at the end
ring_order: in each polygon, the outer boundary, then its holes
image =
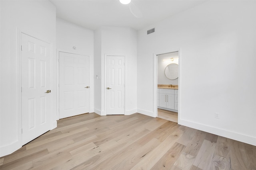
POLYGON ((208 1, 140 30, 138 111, 156 114, 154 54, 181 49, 179 124, 256 145, 255 9, 256 1, 208 1))

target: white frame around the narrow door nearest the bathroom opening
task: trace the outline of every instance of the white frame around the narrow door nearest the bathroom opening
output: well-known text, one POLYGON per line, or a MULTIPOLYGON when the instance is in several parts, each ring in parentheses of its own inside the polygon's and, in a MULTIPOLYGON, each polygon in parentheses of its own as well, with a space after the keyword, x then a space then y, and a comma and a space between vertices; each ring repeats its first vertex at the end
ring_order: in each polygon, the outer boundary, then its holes
POLYGON ((126 115, 126 56, 125 55, 106 55, 104 54, 104 112, 101 115, 107 115, 107 56, 124 56, 124 115, 126 115))

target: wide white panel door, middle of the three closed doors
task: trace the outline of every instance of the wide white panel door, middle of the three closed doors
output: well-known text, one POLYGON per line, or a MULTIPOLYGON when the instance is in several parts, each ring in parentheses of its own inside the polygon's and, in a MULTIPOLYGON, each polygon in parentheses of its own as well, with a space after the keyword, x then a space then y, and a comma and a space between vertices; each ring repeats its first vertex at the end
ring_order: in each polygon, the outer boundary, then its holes
POLYGON ((89 56, 59 53, 59 118, 89 112, 89 56))

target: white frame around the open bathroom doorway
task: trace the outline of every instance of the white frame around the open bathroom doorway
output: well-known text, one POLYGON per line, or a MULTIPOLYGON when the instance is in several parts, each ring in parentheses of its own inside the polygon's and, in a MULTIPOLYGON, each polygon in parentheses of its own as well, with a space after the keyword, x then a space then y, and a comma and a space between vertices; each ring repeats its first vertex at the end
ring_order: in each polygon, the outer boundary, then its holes
POLYGON ((181 68, 181 48, 180 49, 172 49, 168 52, 158 52, 158 53, 154 53, 154 73, 153 73, 153 115, 154 117, 158 116, 158 104, 157 104, 157 100, 158 100, 158 55, 161 54, 166 54, 166 53, 173 53, 173 52, 177 52, 179 54, 179 80, 178 80, 178 86, 179 86, 179 91, 178 91, 178 123, 180 121, 180 115, 181 115, 181 110, 180 110, 180 106, 181 106, 181 102, 180 102, 180 93, 181 93, 181 86, 180 86, 180 68, 181 68))

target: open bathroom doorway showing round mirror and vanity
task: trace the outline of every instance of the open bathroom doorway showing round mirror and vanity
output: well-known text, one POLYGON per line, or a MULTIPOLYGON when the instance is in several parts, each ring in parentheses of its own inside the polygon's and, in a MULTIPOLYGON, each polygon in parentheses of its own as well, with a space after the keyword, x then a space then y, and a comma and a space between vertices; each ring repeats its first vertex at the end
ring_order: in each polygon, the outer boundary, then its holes
POLYGON ((156 55, 156 117, 178 123, 179 51, 156 55))

